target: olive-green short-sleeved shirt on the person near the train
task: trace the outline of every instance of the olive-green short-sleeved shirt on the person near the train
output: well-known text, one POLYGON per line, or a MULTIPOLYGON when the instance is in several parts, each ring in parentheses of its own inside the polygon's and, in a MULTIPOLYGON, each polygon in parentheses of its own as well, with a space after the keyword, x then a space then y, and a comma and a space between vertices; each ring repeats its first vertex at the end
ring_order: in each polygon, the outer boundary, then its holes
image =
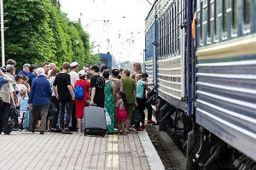
POLYGON ((134 105, 135 104, 135 96, 133 94, 133 91, 136 90, 134 80, 130 77, 122 77, 121 81, 123 82, 124 92, 125 92, 128 104, 134 105))

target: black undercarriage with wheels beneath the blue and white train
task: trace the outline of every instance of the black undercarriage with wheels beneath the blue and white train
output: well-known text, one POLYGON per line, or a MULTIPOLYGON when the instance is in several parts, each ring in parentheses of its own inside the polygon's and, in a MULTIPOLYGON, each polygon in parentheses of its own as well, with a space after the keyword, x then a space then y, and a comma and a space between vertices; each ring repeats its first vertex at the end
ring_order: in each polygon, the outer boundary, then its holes
POLYGON ((256 169, 255 161, 199 126, 195 117, 158 96, 150 96, 148 102, 153 104, 159 130, 168 133, 186 156, 186 170, 256 169))

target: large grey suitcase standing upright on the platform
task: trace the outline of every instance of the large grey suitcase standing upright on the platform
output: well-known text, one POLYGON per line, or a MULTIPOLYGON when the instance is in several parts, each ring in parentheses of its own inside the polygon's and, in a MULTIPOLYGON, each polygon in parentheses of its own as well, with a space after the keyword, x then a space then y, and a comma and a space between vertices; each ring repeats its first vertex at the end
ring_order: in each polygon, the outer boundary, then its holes
POLYGON ((96 106, 85 107, 83 129, 84 136, 99 135, 104 137, 107 133, 107 122, 104 108, 96 106))

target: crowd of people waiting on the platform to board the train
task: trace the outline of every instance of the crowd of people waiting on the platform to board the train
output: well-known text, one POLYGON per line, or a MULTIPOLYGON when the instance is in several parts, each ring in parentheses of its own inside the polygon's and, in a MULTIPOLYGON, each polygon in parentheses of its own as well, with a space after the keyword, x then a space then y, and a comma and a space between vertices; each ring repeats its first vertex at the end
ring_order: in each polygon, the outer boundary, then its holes
MULTIPOLYGON (((146 91, 152 93, 154 82, 147 81, 139 63, 133 64, 134 73, 127 69, 113 69, 108 65, 85 65, 79 71, 77 62, 64 62, 61 69, 54 63, 44 62, 42 67, 25 64, 15 73, 16 62, 9 59, 0 68, 0 133, 11 133, 10 111, 19 111, 22 122, 26 111, 32 112, 32 133, 45 131, 72 134, 82 132, 84 107, 96 105, 105 108, 111 118, 108 133, 142 131, 145 108, 148 109, 148 124, 152 121, 152 107, 146 99, 146 91), (79 90, 83 95, 79 96, 79 90), (49 105, 55 105, 55 115, 49 115, 49 105), (134 109, 140 111, 142 125, 137 122, 132 128, 134 109)), ((17 130, 22 128, 20 127, 17 130)))

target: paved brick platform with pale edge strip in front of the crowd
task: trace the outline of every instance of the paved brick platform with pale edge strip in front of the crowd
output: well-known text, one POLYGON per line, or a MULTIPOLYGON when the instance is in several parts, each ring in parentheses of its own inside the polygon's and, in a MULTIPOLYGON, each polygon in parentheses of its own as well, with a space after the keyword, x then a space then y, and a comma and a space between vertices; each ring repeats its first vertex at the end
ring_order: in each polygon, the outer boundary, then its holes
POLYGON ((0 136, 0 169, 165 169, 148 133, 111 134, 12 132, 0 136))

